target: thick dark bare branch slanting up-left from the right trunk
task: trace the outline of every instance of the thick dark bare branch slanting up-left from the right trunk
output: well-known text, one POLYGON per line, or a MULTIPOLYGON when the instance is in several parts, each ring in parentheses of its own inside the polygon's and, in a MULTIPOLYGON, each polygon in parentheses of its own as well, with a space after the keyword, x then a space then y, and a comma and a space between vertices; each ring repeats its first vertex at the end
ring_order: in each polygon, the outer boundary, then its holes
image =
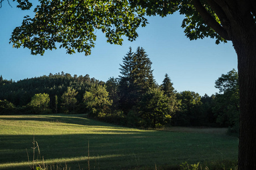
POLYGON ((223 39, 231 40, 228 32, 207 12, 207 10, 203 7, 202 3, 199 0, 193 0, 194 6, 199 14, 202 16, 204 22, 214 29, 223 39))

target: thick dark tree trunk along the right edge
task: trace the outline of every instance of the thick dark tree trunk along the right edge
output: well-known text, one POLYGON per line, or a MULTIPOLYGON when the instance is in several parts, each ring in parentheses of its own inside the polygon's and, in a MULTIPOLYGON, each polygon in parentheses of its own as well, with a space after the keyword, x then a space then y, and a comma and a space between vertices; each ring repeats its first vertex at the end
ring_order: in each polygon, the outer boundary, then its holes
POLYGON ((237 28, 232 42, 240 85, 238 169, 256 169, 256 33, 249 25, 237 28))

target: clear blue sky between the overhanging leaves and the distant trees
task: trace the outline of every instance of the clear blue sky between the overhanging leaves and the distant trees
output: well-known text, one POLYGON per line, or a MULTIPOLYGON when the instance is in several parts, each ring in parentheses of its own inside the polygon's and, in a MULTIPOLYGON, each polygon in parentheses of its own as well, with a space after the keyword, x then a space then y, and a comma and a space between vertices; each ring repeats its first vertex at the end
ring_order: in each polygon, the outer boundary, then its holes
POLYGON ((167 73, 175 90, 189 90, 200 95, 219 92, 215 80, 233 68, 237 70, 237 55, 232 43, 216 45, 213 39, 190 41, 181 28, 183 16, 169 15, 148 17, 149 23, 139 28, 139 37, 130 42, 124 37, 123 45, 106 42, 101 31, 97 32, 95 48, 90 56, 83 53, 66 54, 65 49, 45 52, 44 56, 32 56, 30 50, 12 48, 9 44, 11 32, 22 23, 23 16, 33 15, 22 11, 7 1, 0 8, 0 75, 4 79, 20 80, 49 73, 86 75, 106 81, 120 75, 122 58, 129 46, 135 51, 138 46, 145 49, 153 62, 154 78, 161 84, 167 73))

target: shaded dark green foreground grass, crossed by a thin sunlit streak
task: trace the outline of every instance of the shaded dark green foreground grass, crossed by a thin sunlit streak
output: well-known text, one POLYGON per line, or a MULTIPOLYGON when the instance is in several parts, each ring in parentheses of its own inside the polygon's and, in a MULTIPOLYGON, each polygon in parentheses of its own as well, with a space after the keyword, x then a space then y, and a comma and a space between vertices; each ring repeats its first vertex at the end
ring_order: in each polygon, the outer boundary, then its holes
MULTIPOLYGON (((0 169, 29 169, 32 135, 0 135, 0 169), (23 164, 9 164, 23 163, 23 164), (5 165, 5 166, 4 166, 5 165), (9 167, 8 167, 9 165, 9 167), (6 166, 8 168, 6 168, 6 166), (12 168, 12 166, 14 166, 12 168)), ((182 162, 237 159, 236 138, 216 134, 141 131, 129 134, 35 135, 45 162, 68 163, 71 169, 87 167, 90 140, 90 166, 95 169, 132 169, 158 166, 177 167, 182 162)), ((150 169, 152 169, 150 168, 150 169)), ((93 169, 93 168, 91 168, 93 169)))

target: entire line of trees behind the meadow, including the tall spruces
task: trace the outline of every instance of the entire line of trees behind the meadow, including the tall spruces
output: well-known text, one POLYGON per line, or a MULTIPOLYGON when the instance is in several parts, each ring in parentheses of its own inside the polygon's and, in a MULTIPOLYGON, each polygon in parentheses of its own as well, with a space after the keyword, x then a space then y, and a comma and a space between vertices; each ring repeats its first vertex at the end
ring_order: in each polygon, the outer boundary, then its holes
POLYGON ((49 74, 18 82, 0 77, 1 114, 88 113, 115 124, 144 128, 219 126, 236 131, 239 91, 236 70, 216 80, 219 94, 177 92, 166 74, 154 80, 152 62, 143 48, 130 48, 119 78, 107 82, 89 75, 49 74))

